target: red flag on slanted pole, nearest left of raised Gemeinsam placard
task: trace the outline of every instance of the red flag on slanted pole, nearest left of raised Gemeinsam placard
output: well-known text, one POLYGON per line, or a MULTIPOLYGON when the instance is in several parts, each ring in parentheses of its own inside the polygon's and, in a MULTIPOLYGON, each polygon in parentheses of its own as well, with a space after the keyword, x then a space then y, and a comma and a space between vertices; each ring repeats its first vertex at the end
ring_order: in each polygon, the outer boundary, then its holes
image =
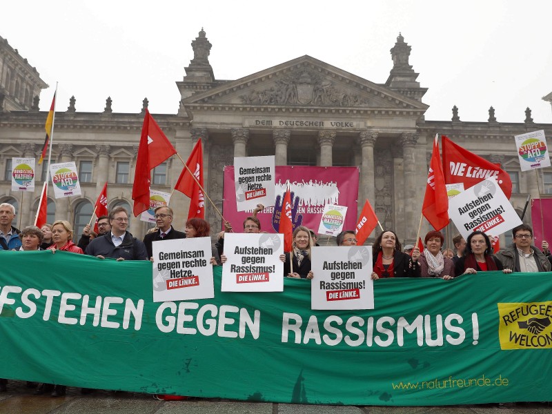
POLYGON ((201 146, 201 138, 197 140, 186 166, 180 173, 175 190, 179 190, 190 197, 190 210, 188 211, 188 219, 199 217, 205 219, 205 197, 203 194, 203 147, 201 146), (195 179, 192 177, 188 169, 193 172, 195 179), (197 180, 197 181, 196 181, 197 180), (197 182, 199 181, 199 186, 197 182))

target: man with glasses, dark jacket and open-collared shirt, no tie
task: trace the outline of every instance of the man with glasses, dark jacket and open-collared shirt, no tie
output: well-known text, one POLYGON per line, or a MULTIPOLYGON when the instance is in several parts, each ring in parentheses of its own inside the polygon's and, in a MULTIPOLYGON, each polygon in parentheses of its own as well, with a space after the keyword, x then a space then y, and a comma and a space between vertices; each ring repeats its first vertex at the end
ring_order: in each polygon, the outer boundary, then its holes
POLYGON ((86 248, 86 254, 100 259, 112 257, 117 260, 148 260, 144 242, 133 237, 128 227, 128 213, 124 207, 115 207, 109 214, 111 230, 93 239, 86 248))

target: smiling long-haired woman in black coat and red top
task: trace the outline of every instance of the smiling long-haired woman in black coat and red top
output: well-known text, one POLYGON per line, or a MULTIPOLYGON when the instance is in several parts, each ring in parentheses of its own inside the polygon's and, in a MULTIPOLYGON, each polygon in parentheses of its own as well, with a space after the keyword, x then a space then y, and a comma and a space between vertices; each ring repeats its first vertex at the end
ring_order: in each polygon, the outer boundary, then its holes
POLYGON ((372 279, 380 277, 420 277, 420 249, 415 247, 412 256, 402 252, 402 246, 395 232, 380 233, 372 246, 372 279))

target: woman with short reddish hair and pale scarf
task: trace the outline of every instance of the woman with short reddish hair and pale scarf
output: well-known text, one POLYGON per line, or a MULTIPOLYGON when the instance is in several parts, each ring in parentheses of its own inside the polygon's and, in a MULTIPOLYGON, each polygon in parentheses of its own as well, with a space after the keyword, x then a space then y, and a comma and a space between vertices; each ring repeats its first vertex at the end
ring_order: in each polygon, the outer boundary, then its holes
POLYGON ((443 242, 444 237, 440 231, 433 230, 426 234, 424 239, 426 248, 418 259, 422 277, 440 277, 444 280, 454 277, 453 261, 441 253, 443 242))

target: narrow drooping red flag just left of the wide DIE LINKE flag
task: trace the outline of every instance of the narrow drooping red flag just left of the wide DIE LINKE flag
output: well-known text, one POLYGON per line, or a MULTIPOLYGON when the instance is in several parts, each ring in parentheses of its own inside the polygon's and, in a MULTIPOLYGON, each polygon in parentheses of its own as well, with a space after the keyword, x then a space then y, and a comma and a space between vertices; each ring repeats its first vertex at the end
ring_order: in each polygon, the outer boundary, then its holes
POLYGON ((446 186, 444 185, 437 135, 433 141, 433 154, 429 162, 422 214, 435 230, 441 230, 449 224, 449 197, 446 195, 446 186))

